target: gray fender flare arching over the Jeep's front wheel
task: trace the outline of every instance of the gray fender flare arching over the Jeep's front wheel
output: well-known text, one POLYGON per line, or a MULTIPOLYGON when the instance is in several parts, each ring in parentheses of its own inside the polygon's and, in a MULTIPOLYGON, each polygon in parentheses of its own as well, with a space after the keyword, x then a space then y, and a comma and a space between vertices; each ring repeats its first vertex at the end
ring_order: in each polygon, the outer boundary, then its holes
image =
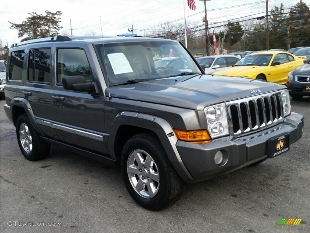
POLYGON ((190 175, 187 168, 185 167, 176 148, 176 143, 178 139, 175 136, 171 125, 168 123, 168 121, 161 117, 156 117, 138 112, 118 113, 113 120, 107 144, 111 158, 116 159, 114 143, 117 130, 122 125, 137 126, 153 131, 157 135, 158 139, 161 141, 162 146, 164 147, 172 166, 178 172, 179 176, 181 176, 184 181, 193 180, 193 177, 190 175))

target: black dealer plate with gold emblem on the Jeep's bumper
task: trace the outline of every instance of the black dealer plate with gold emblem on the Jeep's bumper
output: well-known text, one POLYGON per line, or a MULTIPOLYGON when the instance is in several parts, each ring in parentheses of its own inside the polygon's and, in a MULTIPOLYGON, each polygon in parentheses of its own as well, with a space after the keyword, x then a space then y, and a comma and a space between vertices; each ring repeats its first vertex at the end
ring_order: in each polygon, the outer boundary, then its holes
POLYGON ((274 158, 290 149, 289 133, 268 140, 268 158, 274 158))

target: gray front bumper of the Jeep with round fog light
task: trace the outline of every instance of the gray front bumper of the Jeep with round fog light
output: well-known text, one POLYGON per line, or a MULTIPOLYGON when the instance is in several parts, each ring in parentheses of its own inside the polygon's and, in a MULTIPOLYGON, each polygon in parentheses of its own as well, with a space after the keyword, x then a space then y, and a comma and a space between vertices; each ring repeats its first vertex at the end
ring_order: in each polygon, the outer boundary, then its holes
POLYGON ((271 128, 240 137, 214 139, 206 144, 178 141, 176 147, 193 183, 246 167, 267 157, 268 139, 289 133, 289 144, 299 140, 303 133, 303 116, 292 113, 284 122, 271 128), (225 164, 216 165, 215 154, 221 150, 225 164))

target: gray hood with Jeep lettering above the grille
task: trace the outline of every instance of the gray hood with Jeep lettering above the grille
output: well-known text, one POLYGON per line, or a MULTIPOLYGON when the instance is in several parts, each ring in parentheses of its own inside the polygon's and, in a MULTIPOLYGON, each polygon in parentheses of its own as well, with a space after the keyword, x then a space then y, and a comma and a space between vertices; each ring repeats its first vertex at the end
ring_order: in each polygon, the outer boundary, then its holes
MULTIPOLYGON (((208 105, 283 88, 284 85, 261 80, 202 74, 112 86, 110 96, 203 110, 208 105)), ((105 92, 108 95, 108 89, 105 92)))

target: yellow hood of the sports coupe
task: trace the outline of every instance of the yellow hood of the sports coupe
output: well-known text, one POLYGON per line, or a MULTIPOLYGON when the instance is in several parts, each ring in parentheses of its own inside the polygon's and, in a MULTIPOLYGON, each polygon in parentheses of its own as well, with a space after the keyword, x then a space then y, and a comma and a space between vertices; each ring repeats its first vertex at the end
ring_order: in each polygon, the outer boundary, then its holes
POLYGON ((213 74, 217 75, 233 75, 248 76, 249 74, 257 74, 270 69, 268 66, 232 66, 226 70, 218 71, 213 74))

